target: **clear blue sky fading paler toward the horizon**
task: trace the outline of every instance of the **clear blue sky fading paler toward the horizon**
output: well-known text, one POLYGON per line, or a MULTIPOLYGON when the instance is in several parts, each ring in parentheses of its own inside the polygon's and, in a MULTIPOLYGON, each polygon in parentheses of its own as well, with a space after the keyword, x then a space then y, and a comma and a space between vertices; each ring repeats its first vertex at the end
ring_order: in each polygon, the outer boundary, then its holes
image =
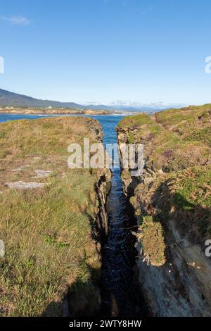
POLYGON ((103 104, 211 102, 210 0, 1 0, 0 87, 103 104))

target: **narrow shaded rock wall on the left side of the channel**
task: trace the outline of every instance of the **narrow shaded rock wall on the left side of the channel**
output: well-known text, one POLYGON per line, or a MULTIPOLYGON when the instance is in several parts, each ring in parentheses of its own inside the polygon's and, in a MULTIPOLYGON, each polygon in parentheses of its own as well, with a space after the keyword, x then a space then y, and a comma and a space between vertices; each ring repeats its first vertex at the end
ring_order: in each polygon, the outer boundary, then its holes
POLYGON ((99 282, 101 278, 101 254, 103 244, 108 235, 108 216, 106 213, 106 200, 108 192, 110 190, 110 177, 111 173, 108 169, 98 170, 96 177, 98 178, 95 190, 95 220, 92 224, 92 242, 96 246, 96 252, 98 255, 98 270, 92 271, 92 277, 88 284, 87 289, 76 291, 70 287, 68 294, 63 301, 63 317, 75 317, 75 316, 93 316, 97 314, 101 309, 101 294, 99 282), (93 308, 89 311, 90 306, 93 308))

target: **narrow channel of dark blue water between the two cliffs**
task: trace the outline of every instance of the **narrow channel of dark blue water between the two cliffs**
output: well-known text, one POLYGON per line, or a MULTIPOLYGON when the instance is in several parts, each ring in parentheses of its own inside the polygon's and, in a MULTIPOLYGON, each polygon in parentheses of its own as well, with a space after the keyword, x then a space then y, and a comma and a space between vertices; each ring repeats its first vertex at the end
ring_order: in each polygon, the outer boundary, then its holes
MULTIPOLYGON (((117 142, 117 116, 97 118, 103 127, 103 143, 117 142)), ((117 160, 115 160, 117 161, 117 160)), ((132 235, 134 215, 122 189, 120 169, 113 169, 107 213, 109 233, 103 247, 101 278, 102 315, 140 316, 141 303, 134 287, 135 237, 132 235)))

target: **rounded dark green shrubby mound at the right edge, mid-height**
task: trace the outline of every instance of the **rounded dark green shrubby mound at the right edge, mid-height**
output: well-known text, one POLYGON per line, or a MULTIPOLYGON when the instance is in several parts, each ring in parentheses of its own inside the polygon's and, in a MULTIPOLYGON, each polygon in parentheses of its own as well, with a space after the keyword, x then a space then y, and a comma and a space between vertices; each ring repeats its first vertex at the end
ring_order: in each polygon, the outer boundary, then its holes
POLYGON ((211 167, 194 166, 170 175, 172 206, 182 227, 201 239, 211 235, 211 167))

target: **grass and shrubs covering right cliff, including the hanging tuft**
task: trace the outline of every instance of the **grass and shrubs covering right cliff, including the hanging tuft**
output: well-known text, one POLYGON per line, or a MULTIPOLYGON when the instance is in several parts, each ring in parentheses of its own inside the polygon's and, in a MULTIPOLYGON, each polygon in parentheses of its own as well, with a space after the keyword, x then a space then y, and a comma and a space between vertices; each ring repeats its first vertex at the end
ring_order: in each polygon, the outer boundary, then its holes
POLYGON ((157 173, 153 185, 136 187, 131 201, 143 250, 159 266, 165 262, 159 225, 165 227, 169 218, 201 244, 211 235, 211 105, 127 117, 118 129, 127 142, 143 142, 146 165, 157 173))

